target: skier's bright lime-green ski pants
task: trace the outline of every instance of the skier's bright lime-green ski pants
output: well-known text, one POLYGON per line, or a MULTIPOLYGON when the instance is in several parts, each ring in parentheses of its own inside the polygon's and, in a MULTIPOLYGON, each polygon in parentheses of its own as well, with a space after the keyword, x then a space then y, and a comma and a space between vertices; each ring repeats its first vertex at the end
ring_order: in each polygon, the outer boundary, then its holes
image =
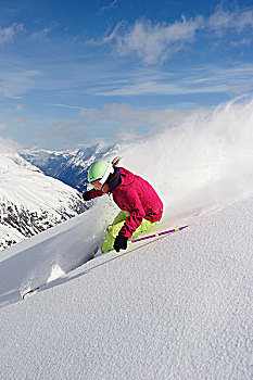
MULTIPOLYGON (((103 253, 113 250, 114 240, 117 237, 118 232, 121 231, 122 227, 124 226, 125 220, 126 220, 128 215, 129 215, 129 213, 127 213, 125 211, 121 211, 117 214, 117 216, 115 217, 115 219, 113 220, 113 224, 107 227, 106 236, 104 238, 104 241, 103 241, 103 244, 101 248, 101 251, 103 253)), ((147 231, 151 227, 154 227, 155 225, 157 225, 157 223, 159 221, 150 221, 147 219, 142 219, 141 225, 132 233, 132 237, 135 237, 135 235, 137 235, 137 233, 147 231)), ((131 240, 131 238, 129 240, 131 240)))

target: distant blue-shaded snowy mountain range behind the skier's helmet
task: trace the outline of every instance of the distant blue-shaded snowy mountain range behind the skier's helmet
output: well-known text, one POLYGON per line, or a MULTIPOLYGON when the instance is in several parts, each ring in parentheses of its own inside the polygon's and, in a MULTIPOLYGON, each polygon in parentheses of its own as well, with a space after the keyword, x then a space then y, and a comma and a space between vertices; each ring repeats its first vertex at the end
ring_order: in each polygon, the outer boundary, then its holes
POLYGON ((20 154, 28 162, 39 167, 46 175, 60 179, 73 188, 87 189, 87 170, 98 160, 106 160, 116 154, 117 147, 101 143, 74 151, 25 150, 20 154))

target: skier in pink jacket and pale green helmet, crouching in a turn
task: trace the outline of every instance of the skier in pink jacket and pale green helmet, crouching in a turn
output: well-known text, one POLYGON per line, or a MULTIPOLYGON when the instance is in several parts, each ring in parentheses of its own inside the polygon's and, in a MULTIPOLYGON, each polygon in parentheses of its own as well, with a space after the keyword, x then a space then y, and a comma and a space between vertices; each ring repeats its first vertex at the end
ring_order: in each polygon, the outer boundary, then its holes
POLYGON ((115 157, 112 164, 101 160, 91 165, 88 181, 93 189, 83 194, 85 201, 90 201, 112 193, 121 208, 106 229, 102 252, 126 250, 132 235, 155 226, 163 214, 163 203, 152 186, 124 167, 117 167, 119 160, 115 157))

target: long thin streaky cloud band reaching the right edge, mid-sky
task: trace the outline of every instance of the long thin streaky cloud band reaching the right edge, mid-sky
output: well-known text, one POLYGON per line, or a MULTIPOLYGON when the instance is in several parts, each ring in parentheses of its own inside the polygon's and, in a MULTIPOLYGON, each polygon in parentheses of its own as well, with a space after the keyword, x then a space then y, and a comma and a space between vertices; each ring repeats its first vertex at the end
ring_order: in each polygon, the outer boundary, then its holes
POLYGON ((239 94, 253 88, 253 65, 243 64, 232 67, 203 65, 191 68, 191 75, 178 77, 174 74, 157 72, 149 78, 129 78, 127 84, 113 84, 106 89, 94 90, 96 94, 141 96, 141 94, 190 94, 190 93, 230 93, 239 94))

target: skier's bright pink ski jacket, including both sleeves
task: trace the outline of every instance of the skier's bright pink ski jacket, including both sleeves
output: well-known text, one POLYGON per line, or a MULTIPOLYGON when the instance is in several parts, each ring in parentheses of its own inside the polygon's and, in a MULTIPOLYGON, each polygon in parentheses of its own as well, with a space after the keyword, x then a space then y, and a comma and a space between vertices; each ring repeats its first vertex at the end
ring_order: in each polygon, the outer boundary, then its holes
MULTIPOLYGON (((129 239, 141 225, 142 219, 157 221, 162 218, 163 202, 147 180, 124 167, 119 167, 119 170, 122 181, 112 191, 112 195, 118 207, 130 214, 119 231, 121 236, 129 239)), ((90 199, 104 194, 102 190, 96 189, 88 193, 90 199)))

